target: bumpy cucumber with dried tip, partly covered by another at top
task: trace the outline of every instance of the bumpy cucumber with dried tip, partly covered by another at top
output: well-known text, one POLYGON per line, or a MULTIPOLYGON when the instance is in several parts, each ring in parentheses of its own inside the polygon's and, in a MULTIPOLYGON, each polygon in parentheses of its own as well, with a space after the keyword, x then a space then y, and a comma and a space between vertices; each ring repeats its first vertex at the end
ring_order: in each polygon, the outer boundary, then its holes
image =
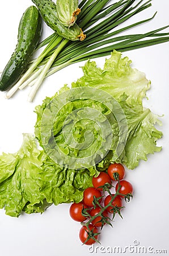
POLYGON ((58 35, 71 41, 83 41, 86 38, 78 24, 74 23, 74 26, 65 27, 58 20, 57 6, 52 0, 32 0, 32 2, 37 6, 44 22, 58 35))

